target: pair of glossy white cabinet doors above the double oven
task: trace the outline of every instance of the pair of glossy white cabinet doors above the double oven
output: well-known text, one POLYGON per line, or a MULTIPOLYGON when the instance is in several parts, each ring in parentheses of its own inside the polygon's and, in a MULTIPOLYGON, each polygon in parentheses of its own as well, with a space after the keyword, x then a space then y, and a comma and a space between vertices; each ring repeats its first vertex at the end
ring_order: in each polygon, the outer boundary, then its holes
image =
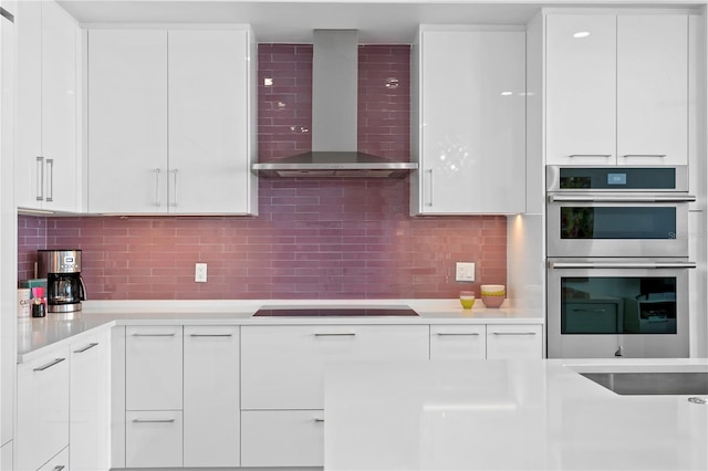
POLYGON ((549 14, 546 164, 688 164, 688 18, 549 14))

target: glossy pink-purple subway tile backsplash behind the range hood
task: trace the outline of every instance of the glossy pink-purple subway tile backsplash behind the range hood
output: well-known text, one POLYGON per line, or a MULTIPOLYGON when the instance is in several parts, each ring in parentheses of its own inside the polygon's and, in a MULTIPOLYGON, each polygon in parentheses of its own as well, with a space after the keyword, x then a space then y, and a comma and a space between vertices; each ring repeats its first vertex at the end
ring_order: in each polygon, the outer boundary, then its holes
MULTIPOLYGON (((408 61, 407 45, 360 48, 361 150, 407 159, 408 61)), ((311 45, 259 46, 262 160, 310 149, 311 80, 311 45)), ((477 263, 475 290, 506 283, 506 217, 412 218, 408 185, 261 179, 258 217, 20 216, 18 275, 38 249, 75 248, 92 300, 456 297, 457 261, 477 263)))

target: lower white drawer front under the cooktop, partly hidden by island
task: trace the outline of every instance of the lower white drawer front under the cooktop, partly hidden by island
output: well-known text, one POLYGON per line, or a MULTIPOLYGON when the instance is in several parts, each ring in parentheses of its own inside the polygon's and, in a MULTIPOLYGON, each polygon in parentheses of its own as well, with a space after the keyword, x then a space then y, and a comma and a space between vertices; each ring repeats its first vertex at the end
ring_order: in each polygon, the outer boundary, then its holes
POLYGON ((241 414, 242 467, 324 465, 322 410, 241 414))

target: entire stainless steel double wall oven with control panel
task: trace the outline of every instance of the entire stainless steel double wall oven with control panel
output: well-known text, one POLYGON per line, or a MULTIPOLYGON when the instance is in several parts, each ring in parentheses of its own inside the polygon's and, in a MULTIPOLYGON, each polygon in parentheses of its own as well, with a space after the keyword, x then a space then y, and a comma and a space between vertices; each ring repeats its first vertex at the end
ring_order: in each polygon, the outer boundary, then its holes
POLYGON ((688 169, 546 167, 548 357, 687 357, 688 169))

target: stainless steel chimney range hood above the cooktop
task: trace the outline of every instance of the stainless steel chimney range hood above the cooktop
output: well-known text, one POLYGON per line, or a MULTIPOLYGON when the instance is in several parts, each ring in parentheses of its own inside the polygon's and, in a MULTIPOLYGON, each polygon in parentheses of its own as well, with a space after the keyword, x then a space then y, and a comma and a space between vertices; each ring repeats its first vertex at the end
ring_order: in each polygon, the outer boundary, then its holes
POLYGON ((415 163, 356 150, 358 41, 356 30, 314 30, 312 151, 253 164, 266 177, 404 177, 415 163))

